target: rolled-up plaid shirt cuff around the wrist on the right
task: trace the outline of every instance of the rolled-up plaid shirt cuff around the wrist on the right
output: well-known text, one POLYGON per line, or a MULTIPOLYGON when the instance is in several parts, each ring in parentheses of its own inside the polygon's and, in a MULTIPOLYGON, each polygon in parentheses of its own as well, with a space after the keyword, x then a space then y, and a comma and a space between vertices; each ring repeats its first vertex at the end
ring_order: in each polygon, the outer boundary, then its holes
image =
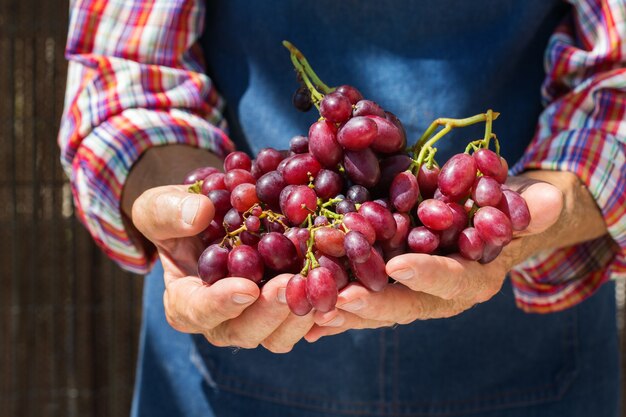
POLYGON ((511 271, 518 307, 548 313, 571 307, 604 282, 626 277, 626 161, 624 144, 600 129, 562 131, 535 140, 512 169, 569 171, 586 185, 608 235, 542 252, 511 271))

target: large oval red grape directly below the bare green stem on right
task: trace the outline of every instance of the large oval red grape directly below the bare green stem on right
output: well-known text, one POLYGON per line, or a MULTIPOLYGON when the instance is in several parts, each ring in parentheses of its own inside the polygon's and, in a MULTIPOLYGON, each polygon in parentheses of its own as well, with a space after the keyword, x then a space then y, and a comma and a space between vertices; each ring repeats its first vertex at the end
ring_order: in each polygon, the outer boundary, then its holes
POLYGON ((460 153, 452 156, 439 172, 439 189, 455 200, 469 195, 476 178, 476 161, 470 155, 460 153))

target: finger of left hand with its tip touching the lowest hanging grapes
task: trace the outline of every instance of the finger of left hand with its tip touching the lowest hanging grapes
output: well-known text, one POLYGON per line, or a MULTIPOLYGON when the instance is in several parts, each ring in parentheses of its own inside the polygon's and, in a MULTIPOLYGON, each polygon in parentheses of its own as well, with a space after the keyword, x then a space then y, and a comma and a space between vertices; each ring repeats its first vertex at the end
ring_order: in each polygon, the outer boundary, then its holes
POLYGON ((282 274, 269 280, 254 304, 239 316, 206 332, 207 339, 218 346, 252 349, 260 345, 290 314, 285 287, 291 276, 282 274))

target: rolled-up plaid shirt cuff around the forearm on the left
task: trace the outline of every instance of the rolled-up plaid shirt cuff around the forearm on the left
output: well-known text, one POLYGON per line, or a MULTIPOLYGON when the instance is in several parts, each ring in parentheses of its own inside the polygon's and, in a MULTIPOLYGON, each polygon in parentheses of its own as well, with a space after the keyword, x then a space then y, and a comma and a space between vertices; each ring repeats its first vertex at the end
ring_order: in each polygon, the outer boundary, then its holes
POLYGON ((234 149, 224 130, 189 112, 128 109, 98 125, 72 160, 70 179, 78 218, 111 259, 137 274, 150 270, 154 254, 135 245, 127 232, 122 190, 143 152, 169 144, 207 149, 221 157, 234 149))

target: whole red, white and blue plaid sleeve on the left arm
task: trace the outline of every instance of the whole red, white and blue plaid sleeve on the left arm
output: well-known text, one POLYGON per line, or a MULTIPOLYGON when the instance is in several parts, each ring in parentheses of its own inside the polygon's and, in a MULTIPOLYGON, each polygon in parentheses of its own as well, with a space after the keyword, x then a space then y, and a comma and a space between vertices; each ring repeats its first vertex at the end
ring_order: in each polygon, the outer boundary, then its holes
POLYGON ((222 101, 196 40, 204 1, 75 0, 59 145, 79 219, 123 268, 152 259, 127 234, 120 211, 132 165, 152 146, 188 144, 223 156, 222 101))

